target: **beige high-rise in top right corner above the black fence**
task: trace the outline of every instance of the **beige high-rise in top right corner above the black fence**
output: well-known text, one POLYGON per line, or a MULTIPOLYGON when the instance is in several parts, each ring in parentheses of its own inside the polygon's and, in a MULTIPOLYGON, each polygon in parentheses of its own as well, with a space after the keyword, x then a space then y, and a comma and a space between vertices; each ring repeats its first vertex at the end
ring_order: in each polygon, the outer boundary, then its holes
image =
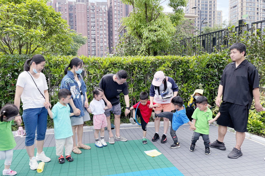
POLYGON ((231 21, 233 25, 237 25, 238 20, 240 19, 245 19, 248 24, 265 20, 265 1, 230 0, 229 21, 231 21))

